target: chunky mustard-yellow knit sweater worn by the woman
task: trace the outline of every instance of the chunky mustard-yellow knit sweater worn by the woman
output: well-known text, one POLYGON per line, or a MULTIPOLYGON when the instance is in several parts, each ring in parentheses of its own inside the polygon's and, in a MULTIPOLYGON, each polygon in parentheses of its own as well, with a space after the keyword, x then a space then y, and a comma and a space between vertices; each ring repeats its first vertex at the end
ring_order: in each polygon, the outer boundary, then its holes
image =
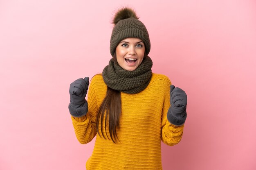
POLYGON ((120 142, 116 140, 115 144, 110 138, 108 126, 110 139, 105 133, 105 120, 103 134, 106 139, 97 134, 96 113, 106 96, 107 86, 101 74, 92 78, 88 91, 88 113, 81 118, 71 116, 81 144, 87 144, 96 135, 92 156, 86 163, 87 170, 162 170, 161 140, 170 146, 179 143, 184 128, 184 125, 171 124, 166 117, 170 107, 170 85, 167 76, 152 73, 148 87, 142 92, 121 92, 122 112, 120 129, 117 129, 120 142))

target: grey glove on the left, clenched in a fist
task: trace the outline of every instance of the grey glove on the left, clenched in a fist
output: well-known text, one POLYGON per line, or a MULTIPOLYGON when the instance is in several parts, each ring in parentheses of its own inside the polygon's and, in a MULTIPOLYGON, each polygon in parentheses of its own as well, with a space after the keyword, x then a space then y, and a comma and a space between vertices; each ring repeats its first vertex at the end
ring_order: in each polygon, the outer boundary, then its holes
POLYGON ((88 112, 88 102, 85 100, 89 87, 89 77, 79 78, 70 84, 70 104, 68 109, 74 117, 82 117, 88 112))

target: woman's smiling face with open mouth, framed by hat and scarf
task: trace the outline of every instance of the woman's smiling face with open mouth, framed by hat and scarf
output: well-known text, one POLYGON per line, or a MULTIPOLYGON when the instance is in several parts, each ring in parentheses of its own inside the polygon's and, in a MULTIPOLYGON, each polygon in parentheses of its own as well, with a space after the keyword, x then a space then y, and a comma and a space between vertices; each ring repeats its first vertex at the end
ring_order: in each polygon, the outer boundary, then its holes
POLYGON ((145 53, 145 46, 141 39, 126 38, 117 48, 117 62, 124 70, 133 71, 141 64, 145 53))

